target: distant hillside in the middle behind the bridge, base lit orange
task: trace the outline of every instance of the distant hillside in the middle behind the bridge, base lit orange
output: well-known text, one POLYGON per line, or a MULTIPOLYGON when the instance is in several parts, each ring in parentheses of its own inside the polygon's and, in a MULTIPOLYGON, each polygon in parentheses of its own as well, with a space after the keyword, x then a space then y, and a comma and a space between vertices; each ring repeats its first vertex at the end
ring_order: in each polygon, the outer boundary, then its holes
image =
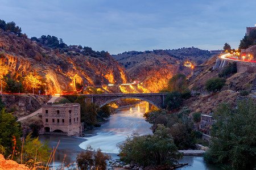
POLYGON ((189 75, 192 69, 183 62, 190 61, 200 65, 210 56, 207 50, 181 48, 173 50, 153 50, 145 52, 125 52, 113 55, 134 80, 139 80, 152 92, 158 92, 167 86, 168 79, 177 73, 189 75))

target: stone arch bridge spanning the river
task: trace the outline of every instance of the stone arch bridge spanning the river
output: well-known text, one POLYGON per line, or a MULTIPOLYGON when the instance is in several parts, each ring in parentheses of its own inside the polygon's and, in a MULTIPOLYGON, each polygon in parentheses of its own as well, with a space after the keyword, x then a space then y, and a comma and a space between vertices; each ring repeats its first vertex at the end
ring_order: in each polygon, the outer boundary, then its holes
POLYGON ((140 99, 147 101, 157 108, 162 108, 164 99, 167 93, 151 93, 151 94, 93 94, 93 95, 82 95, 86 96, 86 100, 91 100, 92 103, 99 105, 100 107, 118 99, 140 99))

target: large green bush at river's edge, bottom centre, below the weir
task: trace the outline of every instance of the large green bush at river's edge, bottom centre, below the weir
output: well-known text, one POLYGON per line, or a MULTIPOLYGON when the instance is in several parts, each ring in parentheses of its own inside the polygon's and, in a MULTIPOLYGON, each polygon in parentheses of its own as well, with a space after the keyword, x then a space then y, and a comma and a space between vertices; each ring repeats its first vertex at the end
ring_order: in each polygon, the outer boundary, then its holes
POLYGON ((158 125, 154 135, 138 136, 134 134, 127 137, 125 142, 118 145, 119 156, 126 163, 140 165, 172 165, 181 158, 177 147, 174 145, 170 129, 158 125))

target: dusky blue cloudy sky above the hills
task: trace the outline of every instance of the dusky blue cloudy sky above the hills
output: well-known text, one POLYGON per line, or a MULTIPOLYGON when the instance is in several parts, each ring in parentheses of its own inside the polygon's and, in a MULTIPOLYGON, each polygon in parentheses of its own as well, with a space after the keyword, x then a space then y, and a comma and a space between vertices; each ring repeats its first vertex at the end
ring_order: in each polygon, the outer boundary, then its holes
POLYGON ((54 35, 67 45, 110 54, 131 50, 238 48, 256 24, 254 0, 0 0, 0 19, 28 37, 54 35))

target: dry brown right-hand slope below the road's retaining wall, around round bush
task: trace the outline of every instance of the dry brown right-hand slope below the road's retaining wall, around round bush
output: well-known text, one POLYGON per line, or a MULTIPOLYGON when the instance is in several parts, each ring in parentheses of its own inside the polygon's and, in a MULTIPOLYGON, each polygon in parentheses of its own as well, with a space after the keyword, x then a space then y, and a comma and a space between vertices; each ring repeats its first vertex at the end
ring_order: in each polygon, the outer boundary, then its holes
MULTIPOLYGON (((221 92, 208 93, 205 90, 205 82, 210 78, 218 77, 223 69, 213 70, 217 56, 208 59, 200 66, 193 70, 193 76, 189 78, 189 89, 192 90, 192 97, 184 100, 183 106, 189 107, 192 112, 201 112, 210 114, 222 102, 229 103, 236 107, 237 99, 240 99, 240 92, 243 90, 255 92, 256 74, 255 73, 234 73, 224 76, 226 85, 221 92)), ((256 101, 256 98, 253 97, 256 101)), ((191 113, 192 113, 191 112, 191 113)))

